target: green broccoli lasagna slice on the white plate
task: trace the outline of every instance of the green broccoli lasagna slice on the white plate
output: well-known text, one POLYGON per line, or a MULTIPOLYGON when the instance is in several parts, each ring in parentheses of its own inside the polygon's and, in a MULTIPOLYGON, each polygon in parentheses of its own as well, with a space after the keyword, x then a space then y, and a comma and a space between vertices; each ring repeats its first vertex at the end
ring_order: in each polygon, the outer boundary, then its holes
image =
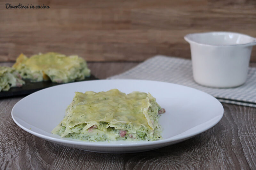
POLYGON ((53 134, 84 141, 160 140, 161 108, 150 93, 75 92, 53 134))

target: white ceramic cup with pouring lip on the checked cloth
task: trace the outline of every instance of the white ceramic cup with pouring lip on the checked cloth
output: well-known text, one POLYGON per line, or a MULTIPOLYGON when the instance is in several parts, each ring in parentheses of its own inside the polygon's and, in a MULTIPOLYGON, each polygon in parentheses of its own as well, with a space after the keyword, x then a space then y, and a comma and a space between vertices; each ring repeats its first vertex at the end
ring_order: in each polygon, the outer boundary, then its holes
POLYGON ((193 77, 198 84, 219 88, 244 84, 256 38, 209 32, 188 34, 184 39, 190 44, 193 77))

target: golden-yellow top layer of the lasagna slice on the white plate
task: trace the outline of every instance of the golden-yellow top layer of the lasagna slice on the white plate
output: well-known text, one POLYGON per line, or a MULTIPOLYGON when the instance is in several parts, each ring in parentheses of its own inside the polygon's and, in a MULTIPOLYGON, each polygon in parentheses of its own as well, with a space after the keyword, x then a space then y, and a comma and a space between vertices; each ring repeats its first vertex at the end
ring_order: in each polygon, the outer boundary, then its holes
POLYGON ((87 123, 84 130, 97 125, 97 122, 108 122, 110 127, 117 129, 121 124, 127 123, 132 124, 134 129, 139 129, 142 125, 152 130, 153 125, 147 114, 150 105, 147 93, 142 92, 128 95, 117 89, 99 93, 76 92, 62 123, 68 128, 87 123))

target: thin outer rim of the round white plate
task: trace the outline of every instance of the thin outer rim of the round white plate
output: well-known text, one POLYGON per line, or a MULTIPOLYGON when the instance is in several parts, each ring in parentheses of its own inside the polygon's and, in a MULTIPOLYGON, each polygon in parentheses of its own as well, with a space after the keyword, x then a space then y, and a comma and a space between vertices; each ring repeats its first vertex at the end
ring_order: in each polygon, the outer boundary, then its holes
MULTIPOLYGON (((79 146, 90 146, 90 147, 133 147, 133 146, 150 146, 150 145, 159 145, 159 144, 168 144, 168 143, 171 143, 171 142, 175 142, 175 141, 183 141, 183 140, 186 140, 188 138, 191 138, 191 137, 194 137, 208 129, 211 129, 213 126, 215 126, 218 122, 220 122, 220 120, 222 119, 223 115, 224 115, 224 108, 222 106, 222 104, 220 103, 219 100, 217 100, 215 97, 213 97, 212 95, 206 93, 206 92, 203 92, 203 91, 200 91, 200 90, 197 90, 195 88, 192 88, 192 87, 188 87, 188 86, 185 86, 185 85, 179 85, 179 84, 174 84, 174 83, 169 83, 169 82, 163 82, 163 81, 154 81, 154 80, 141 80, 141 79, 103 79, 103 80, 89 80, 89 81, 83 81, 83 82, 73 82, 73 83, 68 83, 68 84, 61 84, 61 85, 56 85, 56 86, 52 86, 52 87, 48 87, 48 88, 45 88, 45 89, 42 89, 42 90, 39 90, 37 92, 34 92, 34 93, 31 93, 29 94, 28 96, 22 98, 21 100, 19 100, 13 107, 12 107, 12 112, 11 112, 11 115, 12 115, 12 120, 23 130, 27 131, 28 133, 32 134, 32 135, 35 135, 36 137, 40 137, 44 140, 47 140, 47 141, 52 141, 52 142, 55 142, 55 143, 61 143, 61 144, 73 144, 73 145, 79 145, 79 146), (26 127, 22 126, 15 118, 14 118, 14 115, 13 115, 13 110, 15 109, 15 107, 17 107, 17 104, 19 102, 21 102, 22 100, 25 100, 27 97, 29 97, 30 95, 34 95, 35 93, 37 92, 40 92, 40 91, 43 91, 43 90, 46 90, 48 88, 56 88, 58 86, 65 86, 65 85, 70 85, 70 84, 73 84, 73 83, 87 83, 87 82, 91 82, 91 81, 148 81, 148 82, 161 82, 161 83, 166 83, 166 84, 172 84, 172 85, 178 85, 178 86, 182 86, 184 88, 189 88, 189 89, 192 89, 192 90, 196 90, 198 92, 202 92, 202 93, 205 93, 206 95, 212 97, 217 103, 218 105, 220 105, 221 107, 221 114, 216 116, 216 117, 219 117, 215 122, 213 122, 210 126, 207 126, 206 128, 203 128, 203 129, 200 129, 200 130, 197 130, 196 132, 194 133, 190 133, 190 134, 187 134, 185 136, 181 136, 181 137, 175 137, 175 136, 178 136, 180 134, 177 134, 173 137, 169 137, 169 138, 166 138, 166 139, 162 139, 162 140, 157 140, 157 141, 137 141, 139 143, 137 143, 136 141, 132 141, 131 143, 121 143, 121 144, 114 144, 114 143, 102 143, 102 142, 88 142, 88 141, 73 141, 73 140, 66 140, 65 138, 63 139, 58 139, 58 138, 55 138, 55 137, 49 137, 49 136, 46 136, 46 135, 43 135, 43 134, 40 134, 40 133, 37 133, 37 132, 34 132, 33 130, 30 130, 30 129, 27 129, 26 127)), ((203 122, 205 123, 205 122, 203 122)), ((202 124, 202 123, 201 123, 202 124)), ((201 124, 198 124, 197 126, 201 125, 201 124)), ((196 127, 196 126, 195 126, 196 127)), ((194 128, 194 127, 193 127, 194 128)), ((76 139, 74 139, 76 140, 76 139)), ((110 141, 111 142, 111 141, 110 141)))

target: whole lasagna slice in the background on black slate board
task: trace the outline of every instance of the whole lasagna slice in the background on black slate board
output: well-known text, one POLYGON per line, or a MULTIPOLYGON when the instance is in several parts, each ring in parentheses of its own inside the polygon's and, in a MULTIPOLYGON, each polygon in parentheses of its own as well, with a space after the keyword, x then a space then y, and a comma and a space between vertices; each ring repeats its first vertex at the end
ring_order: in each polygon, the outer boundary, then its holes
POLYGON ((32 82, 51 79, 56 83, 68 83, 90 76, 84 59, 77 55, 66 56, 54 52, 40 53, 30 58, 20 54, 12 67, 20 72, 22 78, 32 82))

